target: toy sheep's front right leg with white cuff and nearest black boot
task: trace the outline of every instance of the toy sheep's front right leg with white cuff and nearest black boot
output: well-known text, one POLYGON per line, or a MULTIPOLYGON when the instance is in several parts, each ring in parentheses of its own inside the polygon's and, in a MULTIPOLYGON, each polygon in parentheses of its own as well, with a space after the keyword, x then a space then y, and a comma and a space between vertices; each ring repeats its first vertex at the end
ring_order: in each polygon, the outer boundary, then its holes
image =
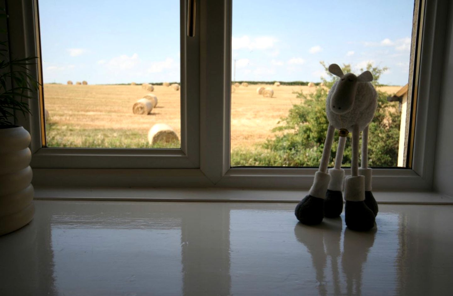
POLYGON ((359 127, 352 131, 351 176, 346 178, 345 222, 352 230, 365 231, 374 227, 375 215, 365 204, 365 177, 358 175, 359 127))

